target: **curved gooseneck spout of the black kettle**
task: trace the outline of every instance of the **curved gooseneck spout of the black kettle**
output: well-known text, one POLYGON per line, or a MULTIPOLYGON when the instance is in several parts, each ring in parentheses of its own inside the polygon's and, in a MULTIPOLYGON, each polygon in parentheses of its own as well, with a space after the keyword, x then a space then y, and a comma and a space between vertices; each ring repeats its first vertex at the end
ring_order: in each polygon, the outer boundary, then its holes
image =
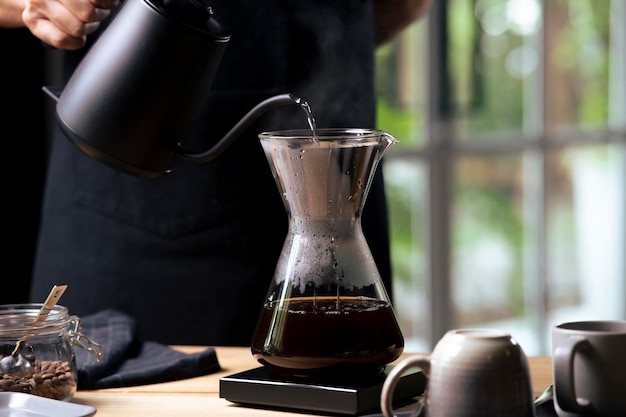
POLYGON ((276 107, 289 104, 296 104, 301 106, 307 113, 307 117, 311 117, 309 113, 309 105, 306 103, 306 101, 302 100, 299 97, 295 97, 292 94, 279 94, 277 96, 265 99, 256 106, 254 106, 254 108, 246 113, 246 115, 243 116, 243 118, 239 120, 239 122, 237 122, 237 124, 233 126, 233 128, 230 129, 230 131, 228 131, 228 133, 226 133, 226 135, 222 139, 220 139, 220 141, 217 142, 212 148, 204 152, 192 153, 186 151, 181 146, 181 144, 178 143, 176 145, 176 148, 174 149, 174 152, 180 158, 187 161, 198 163, 211 161, 221 155, 222 152, 224 152, 226 148, 228 148, 235 141, 235 139, 237 139, 237 137, 239 137, 239 135, 241 135, 243 131, 247 129, 252 124, 252 122, 258 119, 262 114, 276 107))

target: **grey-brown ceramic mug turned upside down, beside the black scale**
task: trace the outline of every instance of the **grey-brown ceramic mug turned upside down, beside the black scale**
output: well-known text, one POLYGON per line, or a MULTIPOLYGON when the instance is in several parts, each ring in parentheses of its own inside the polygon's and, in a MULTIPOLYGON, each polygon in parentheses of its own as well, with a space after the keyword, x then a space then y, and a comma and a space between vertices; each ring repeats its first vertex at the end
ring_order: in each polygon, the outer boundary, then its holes
MULTIPOLYGON (((447 332, 431 355, 399 362, 382 387, 380 407, 393 417, 393 392, 404 372, 427 378, 420 407, 428 417, 534 417, 533 391, 524 351, 508 333, 490 329, 447 332)), ((419 414, 418 409, 415 415, 419 414)))

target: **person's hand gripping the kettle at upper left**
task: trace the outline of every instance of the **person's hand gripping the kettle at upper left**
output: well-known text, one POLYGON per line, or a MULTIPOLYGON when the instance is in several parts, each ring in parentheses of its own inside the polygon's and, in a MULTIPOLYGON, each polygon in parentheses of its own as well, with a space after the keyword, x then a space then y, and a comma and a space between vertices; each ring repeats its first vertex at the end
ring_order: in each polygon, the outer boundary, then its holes
POLYGON ((25 0, 22 20, 47 45, 79 49, 118 0, 25 0))

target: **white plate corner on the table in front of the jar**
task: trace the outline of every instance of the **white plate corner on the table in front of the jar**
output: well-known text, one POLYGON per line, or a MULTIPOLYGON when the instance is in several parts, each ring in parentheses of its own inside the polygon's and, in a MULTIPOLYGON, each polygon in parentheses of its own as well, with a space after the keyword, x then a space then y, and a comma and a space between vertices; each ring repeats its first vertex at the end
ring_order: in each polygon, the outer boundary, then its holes
POLYGON ((88 405, 22 392, 0 392, 0 417, 88 417, 94 414, 96 409, 88 405))

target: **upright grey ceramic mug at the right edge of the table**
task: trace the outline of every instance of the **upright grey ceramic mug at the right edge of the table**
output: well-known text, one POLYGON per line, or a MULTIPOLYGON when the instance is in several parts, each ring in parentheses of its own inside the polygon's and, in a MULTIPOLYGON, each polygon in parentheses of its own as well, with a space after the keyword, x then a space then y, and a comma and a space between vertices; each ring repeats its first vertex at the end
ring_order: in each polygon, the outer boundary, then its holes
POLYGON ((559 417, 626 416, 626 321, 580 321, 552 328, 559 417))

